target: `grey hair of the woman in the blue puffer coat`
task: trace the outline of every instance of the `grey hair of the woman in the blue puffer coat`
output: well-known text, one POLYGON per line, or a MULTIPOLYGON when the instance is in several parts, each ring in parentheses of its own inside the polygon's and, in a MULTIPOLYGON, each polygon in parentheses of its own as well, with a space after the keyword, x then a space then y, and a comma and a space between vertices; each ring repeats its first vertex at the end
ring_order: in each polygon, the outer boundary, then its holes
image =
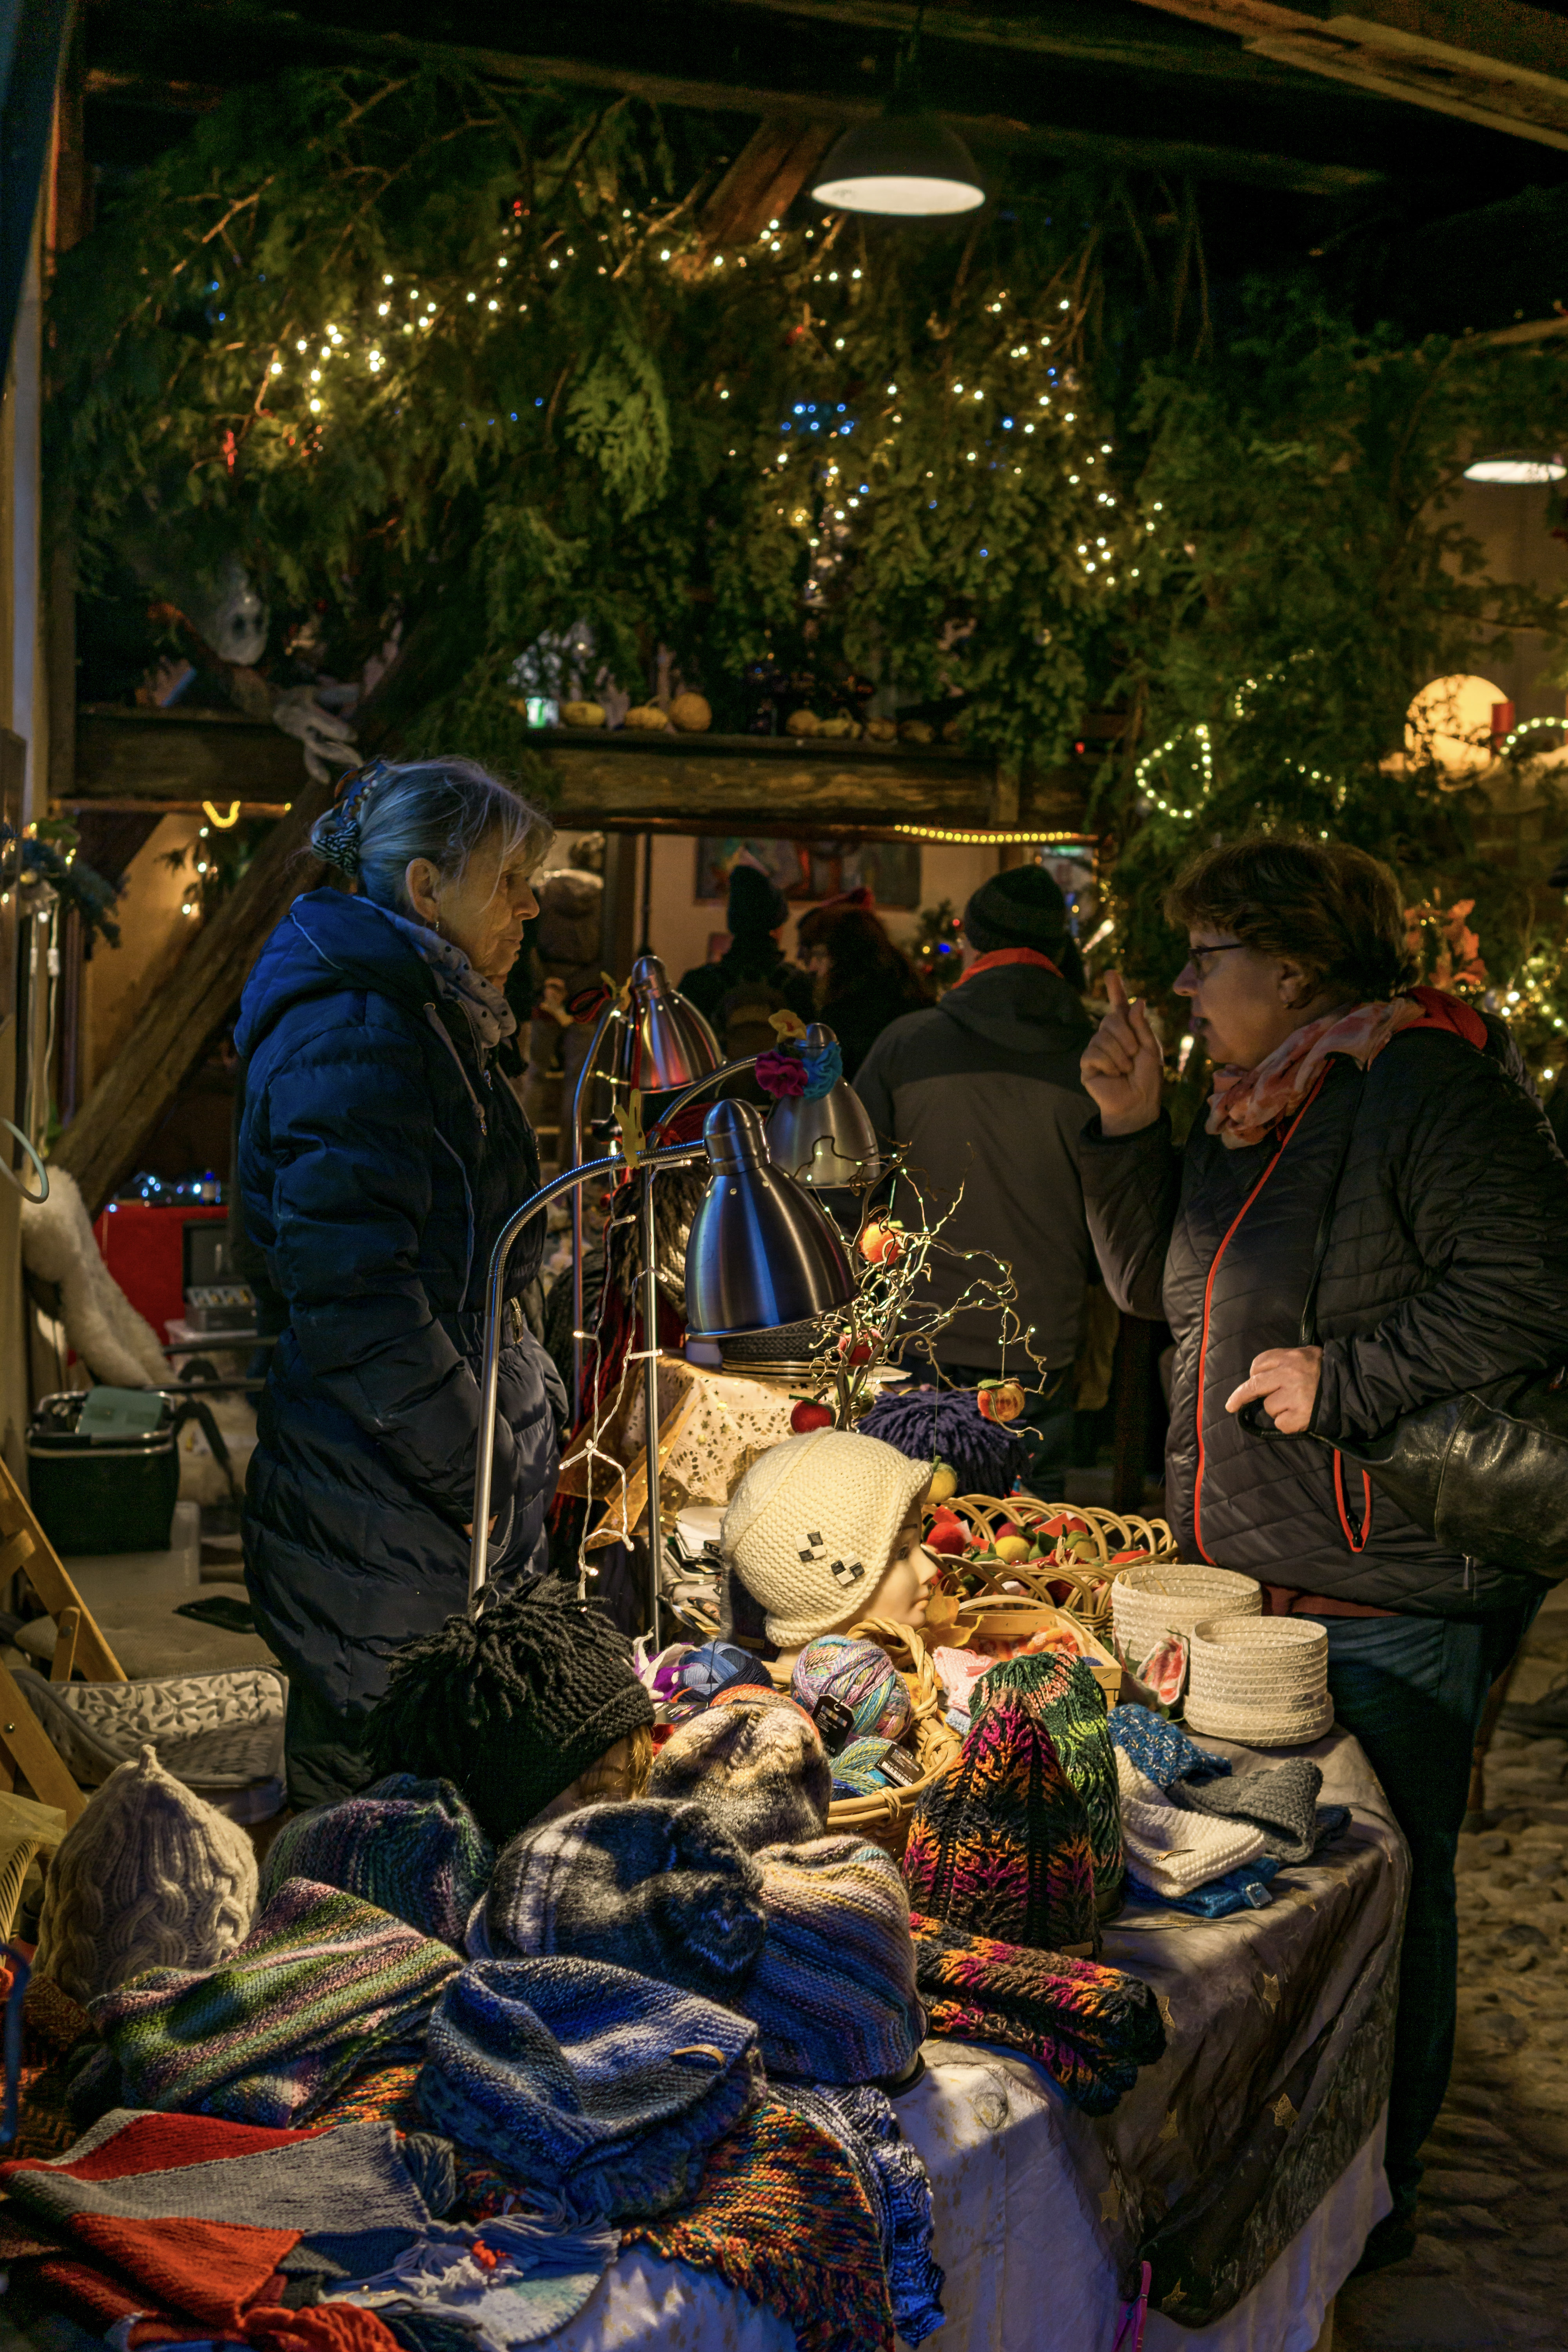
POLYGON ((400 915, 414 913, 414 858, 428 858, 442 882, 461 882, 480 842, 494 835, 503 866, 520 849, 538 866, 555 826, 475 760, 378 760, 310 828, 317 856, 400 915))

